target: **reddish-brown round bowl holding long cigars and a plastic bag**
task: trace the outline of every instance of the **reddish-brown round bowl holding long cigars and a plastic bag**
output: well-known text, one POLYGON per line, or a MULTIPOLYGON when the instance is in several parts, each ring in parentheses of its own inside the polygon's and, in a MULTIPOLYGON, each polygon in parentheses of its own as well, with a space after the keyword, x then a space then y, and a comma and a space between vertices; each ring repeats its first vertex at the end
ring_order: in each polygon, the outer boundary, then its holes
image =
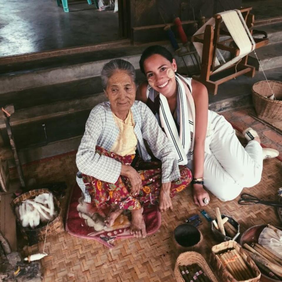
MULTIPOLYGON (((240 239, 240 245, 243 247, 243 245, 246 243, 250 245, 251 243, 258 243, 259 241, 259 235, 263 231, 263 229, 267 227, 266 224, 261 224, 261 225, 255 225, 247 229, 241 236, 240 239)), ((277 227, 279 228, 279 227, 277 227)), ((281 229, 281 228, 279 228, 281 229)), ((273 278, 270 278, 263 273, 261 273, 261 282, 279 282, 281 280, 276 280, 273 278)))

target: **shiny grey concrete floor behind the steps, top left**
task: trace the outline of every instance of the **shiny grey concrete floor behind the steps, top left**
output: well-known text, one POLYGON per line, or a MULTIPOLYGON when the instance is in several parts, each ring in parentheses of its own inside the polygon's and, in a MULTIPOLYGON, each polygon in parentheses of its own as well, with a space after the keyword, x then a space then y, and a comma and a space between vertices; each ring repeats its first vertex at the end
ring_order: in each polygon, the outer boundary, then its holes
POLYGON ((99 12, 86 0, 0 0, 0 57, 118 39, 118 13, 99 12))

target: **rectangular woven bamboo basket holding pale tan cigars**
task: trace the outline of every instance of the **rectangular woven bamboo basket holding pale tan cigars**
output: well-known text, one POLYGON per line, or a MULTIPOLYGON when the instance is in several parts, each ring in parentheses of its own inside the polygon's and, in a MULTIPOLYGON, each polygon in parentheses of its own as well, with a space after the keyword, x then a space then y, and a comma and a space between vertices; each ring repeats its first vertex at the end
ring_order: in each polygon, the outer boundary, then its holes
POLYGON ((243 248, 235 241, 226 241, 221 244, 215 245, 212 247, 212 256, 211 256, 211 263, 212 267, 216 270, 216 273, 218 277, 221 279, 221 281, 224 282, 237 282, 232 274, 226 269, 226 267, 222 264, 222 262, 219 260, 219 258, 216 256, 216 254, 221 254, 228 249, 235 249, 238 251, 244 262, 247 266, 249 266, 253 278, 250 278, 248 280, 240 280, 244 282, 259 282, 261 278, 261 272, 259 271, 259 268, 256 266, 254 261, 251 259, 251 257, 244 253, 243 248))

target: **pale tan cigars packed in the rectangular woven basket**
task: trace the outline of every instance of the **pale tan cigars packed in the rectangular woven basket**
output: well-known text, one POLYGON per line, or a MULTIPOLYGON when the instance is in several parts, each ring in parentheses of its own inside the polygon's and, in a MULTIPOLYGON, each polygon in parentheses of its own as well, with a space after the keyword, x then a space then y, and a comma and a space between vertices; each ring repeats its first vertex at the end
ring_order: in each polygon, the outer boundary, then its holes
POLYGON ((237 250, 229 249, 224 253, 216 254, 216 256, 237 281, 254 278, 251 269, 246 265, 237 250))

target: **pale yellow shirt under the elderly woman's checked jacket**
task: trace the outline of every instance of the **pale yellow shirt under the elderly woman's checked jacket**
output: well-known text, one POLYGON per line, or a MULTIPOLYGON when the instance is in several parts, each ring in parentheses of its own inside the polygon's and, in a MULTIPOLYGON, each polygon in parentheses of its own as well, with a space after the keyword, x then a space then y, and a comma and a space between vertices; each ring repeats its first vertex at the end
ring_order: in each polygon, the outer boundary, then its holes
POLYGON ((114 113, 113 117, 120 132, 110 151, 122 157, 135 154, 137 137, 134 132, 135 122, 131 110, 129 110, 125 121, 118 118, 114 113))

